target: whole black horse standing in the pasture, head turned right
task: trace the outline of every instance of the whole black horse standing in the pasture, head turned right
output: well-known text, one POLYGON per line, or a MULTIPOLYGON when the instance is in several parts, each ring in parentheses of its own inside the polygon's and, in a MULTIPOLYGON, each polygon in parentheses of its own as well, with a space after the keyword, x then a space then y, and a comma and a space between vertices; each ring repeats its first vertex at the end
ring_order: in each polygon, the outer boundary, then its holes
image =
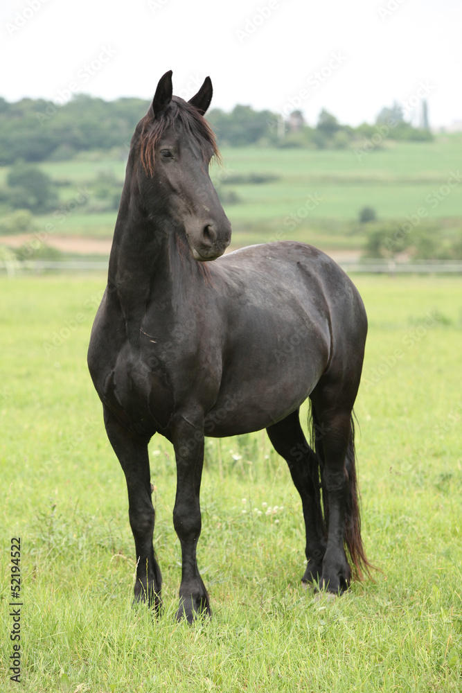
POLYGON ((157 609, 148 442, 159 432, 175 448, 177 616, 188 621, 211 613, 196 561, 205 435, 267 429, 301 496, 304 582, 341 593, 352 577, 347 553, 359 579, 369 567, 352 421, 364 305, 346 274, 310 245, 267 243, 220 257, 231 225, 208 176, 218 155, 203 118, 211 98, 209 78, 188 102, 172 96, 170 71, 136 126, 88 354, 107 436, 127 480, 135 600, 157 609), (299 423, 308 397, 311 446, 299 423))

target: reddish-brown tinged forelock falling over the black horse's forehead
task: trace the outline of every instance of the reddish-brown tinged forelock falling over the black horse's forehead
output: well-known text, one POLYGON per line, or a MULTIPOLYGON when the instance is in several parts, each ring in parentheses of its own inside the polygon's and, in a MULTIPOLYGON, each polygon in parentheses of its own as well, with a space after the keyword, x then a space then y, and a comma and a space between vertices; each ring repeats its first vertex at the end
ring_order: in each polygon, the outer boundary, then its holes
POLYGON ((199 143, 204 159, 206 159, 206 144, 208 144, 213 149, 213 156, 221 161, 212 128, 197 108, 182 98, 173 96, 168 107, 155 117, 152 105, 150 105, 148 113, 141 123, 139 153, 147 175, 152 176, 154 174, 154 148, 157 142, 168 128, 175 128, 177 123, 199 143))

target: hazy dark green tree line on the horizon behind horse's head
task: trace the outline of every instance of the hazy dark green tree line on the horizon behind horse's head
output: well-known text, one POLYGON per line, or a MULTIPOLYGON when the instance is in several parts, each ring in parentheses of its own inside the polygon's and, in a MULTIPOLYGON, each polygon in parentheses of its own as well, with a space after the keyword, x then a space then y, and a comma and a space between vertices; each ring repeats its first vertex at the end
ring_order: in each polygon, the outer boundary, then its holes
MULTIPOLYGON (((60 161, 86 150, 114 150, 124 155, 135 125, 148 107, 149 102, 141 98, 105 101, 85 94, 73 96, 64 105, 31 98, 8 103, 0 97, 0 164, 60 161)), ((281 114, 245 105, 236 105, 231 112, 212 109, 207 119, 219 146, 322 149, 360 146, 377 133, 384 112, 397 118, 389 139, 432 139, 428 128, 414 128, 405 121, 397 105, 384 109, 374 125, 363 123, 357 128, 341 125, 326 110, 319 114, 317 125, 310 127, 300 111, 284 120, 281 114)))

